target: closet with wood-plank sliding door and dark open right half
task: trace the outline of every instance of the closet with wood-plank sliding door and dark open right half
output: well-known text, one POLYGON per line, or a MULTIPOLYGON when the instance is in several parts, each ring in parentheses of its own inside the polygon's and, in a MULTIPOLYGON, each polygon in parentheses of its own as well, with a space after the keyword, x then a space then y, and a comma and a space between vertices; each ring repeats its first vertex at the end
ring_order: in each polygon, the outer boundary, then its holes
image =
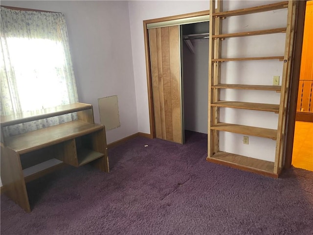
POLYGON ((149 29, 156 138, 183 143, 184 130, 207 133, 207 19, 149 29))

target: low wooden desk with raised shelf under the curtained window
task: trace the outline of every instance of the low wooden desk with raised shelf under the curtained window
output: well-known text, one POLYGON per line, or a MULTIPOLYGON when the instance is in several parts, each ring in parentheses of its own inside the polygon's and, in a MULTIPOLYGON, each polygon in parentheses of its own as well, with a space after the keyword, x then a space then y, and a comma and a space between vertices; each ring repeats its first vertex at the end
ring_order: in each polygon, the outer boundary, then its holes
POLYGON ((1 117, 1 180, 5 194, 30 212, 25 183, 65 165, 93 165, 109 172, 106 134, 95 124, 90 104, 74 103, 38 112, 1 117), (77 120, 3 138, 3 128, 77 113, 77 120))

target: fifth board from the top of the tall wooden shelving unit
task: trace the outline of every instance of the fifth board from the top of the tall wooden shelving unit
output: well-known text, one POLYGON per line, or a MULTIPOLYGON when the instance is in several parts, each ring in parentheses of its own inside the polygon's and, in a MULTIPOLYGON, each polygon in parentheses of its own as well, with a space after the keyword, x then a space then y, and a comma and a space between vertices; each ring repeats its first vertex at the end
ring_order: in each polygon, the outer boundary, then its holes
POLYGON ((259 111, 269 111, 269 112, 279 112, 278 104, 261 104, 261 103, 248 103, 248 102, 238 102, 238 101, 218 101, 212 103, 211 106, 214 107, 225 107, 225 108, 236 108, 236 109, 249 109, 249 110, 259 110, 259 111))

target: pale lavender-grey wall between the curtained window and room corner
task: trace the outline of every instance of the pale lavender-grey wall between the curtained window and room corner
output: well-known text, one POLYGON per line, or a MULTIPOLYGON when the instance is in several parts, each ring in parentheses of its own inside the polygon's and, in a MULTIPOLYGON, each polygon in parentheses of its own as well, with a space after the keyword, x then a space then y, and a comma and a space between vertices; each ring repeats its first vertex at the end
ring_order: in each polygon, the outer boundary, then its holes
POLYGON ((62 12, 80 102, 117 95, 121 126, 107 131, 108 143, 138 132, 127 1, 2 1, 1 5, 62 12))

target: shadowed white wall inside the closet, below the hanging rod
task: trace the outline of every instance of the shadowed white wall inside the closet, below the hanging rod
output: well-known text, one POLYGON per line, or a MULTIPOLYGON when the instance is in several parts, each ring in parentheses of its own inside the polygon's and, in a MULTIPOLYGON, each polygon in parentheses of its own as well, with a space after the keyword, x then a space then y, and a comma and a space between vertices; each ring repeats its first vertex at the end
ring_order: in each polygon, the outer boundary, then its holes
POLYGON ((209 41, 192 40, 195 53, 183 43, 183 116, 185 130, 207 134, 209 41))

